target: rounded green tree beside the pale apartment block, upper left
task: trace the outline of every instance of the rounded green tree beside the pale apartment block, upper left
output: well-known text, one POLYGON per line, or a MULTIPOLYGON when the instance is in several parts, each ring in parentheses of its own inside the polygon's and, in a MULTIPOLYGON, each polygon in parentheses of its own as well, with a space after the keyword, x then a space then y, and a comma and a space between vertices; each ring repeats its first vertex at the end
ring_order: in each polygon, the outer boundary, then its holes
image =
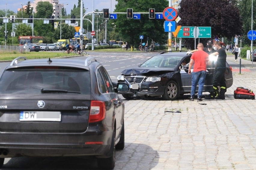
POLYGON ((35 18, 52 18, 53 5, 48 1, 39 1, 36 11, 35 18))

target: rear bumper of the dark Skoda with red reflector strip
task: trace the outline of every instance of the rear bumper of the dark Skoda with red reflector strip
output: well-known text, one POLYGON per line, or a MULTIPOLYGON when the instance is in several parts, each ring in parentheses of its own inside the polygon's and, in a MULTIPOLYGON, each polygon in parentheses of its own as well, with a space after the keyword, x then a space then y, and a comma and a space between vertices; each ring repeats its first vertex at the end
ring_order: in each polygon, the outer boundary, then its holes
POLYGON ((0 158, 33 156, 101 156, 111 147, 112 131, 102 127, 85 133, 0 133, 0 158), (98 131, 97 131, 97 130, 98 131), (90 143, 88 143, 90 142, 90 143), (93 143, 92 142, 97 142, 93 143))

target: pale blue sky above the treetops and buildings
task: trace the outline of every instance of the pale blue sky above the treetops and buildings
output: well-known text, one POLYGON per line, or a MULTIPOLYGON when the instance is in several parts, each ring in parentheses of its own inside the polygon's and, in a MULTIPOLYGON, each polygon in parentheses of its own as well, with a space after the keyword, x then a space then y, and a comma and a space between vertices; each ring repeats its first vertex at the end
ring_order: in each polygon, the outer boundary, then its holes
MULTIPOLYGON (((0 0, 0 10, 5 10, 7 7, 7 10, 12 10, 15 13, 17 12, 18 8, 21 8, 21 4, 27 4, 28 0, 0 0)), ((84 2, 84 8, 86 9, 86 12, 93 12, 93 1, 94 1, 94 10, 103 10, 103 8, 109 8, 109 12, 113 12, 115 9, 115 4, 117 1, 115 0, 83 0, 84 2)), ((33 0, 30 0, 30 2, 33 2, 33 0)), ((67 14, 70 14, 71 9, 73 9, 74 4, 78 4, 78 0, 59 0, 59 4, 68 4, 64 5, 66 8, 67 14)))

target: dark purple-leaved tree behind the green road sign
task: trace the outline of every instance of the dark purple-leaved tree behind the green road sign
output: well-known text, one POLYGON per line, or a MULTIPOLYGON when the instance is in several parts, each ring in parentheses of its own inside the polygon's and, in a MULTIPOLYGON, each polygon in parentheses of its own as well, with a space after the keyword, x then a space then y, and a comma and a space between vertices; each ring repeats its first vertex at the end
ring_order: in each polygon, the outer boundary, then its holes
MULTIPOLYGON (((178 16, 179 25, 212 27, 211 39, 215 37, 232 38, 241 35, 242 18, 236 0, 181 0, 178 16)), ((206 44, 208 39, 200 39, 206 44)), ((187 38, 186 46, 194 48, 194 39, 187 38)))

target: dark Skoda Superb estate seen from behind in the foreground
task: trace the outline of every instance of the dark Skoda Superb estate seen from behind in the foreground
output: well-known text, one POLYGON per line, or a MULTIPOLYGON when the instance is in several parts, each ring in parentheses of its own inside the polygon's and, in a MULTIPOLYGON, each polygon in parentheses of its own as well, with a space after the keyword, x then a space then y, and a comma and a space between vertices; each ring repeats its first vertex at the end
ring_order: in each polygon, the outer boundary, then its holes
POLYGON ((101 169, 114 169, 124 104, 95 58, 18 57, 0 86, 0 167, 9 157, 95 156, 101 169))

